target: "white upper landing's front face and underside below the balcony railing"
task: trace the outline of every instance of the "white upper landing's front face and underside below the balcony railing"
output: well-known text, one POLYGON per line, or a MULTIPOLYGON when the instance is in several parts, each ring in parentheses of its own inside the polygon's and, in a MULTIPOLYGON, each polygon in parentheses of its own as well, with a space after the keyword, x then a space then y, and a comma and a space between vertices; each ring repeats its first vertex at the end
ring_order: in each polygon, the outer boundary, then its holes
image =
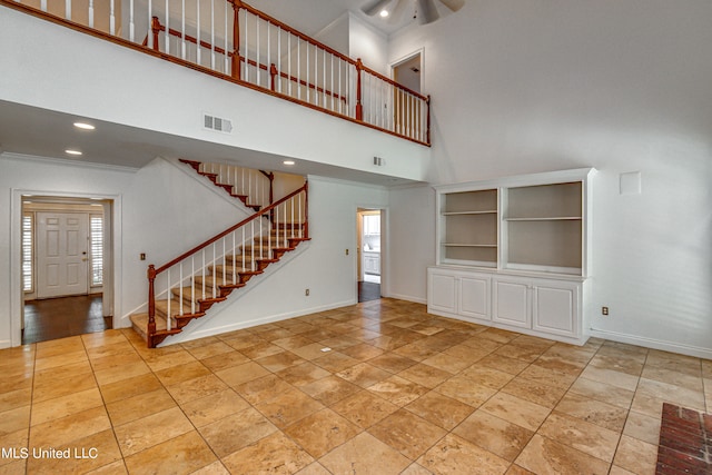
MULTIPOLYGON (((285 100, 278 91, 243 87, 202 67, 186 67, 165 51, 66 28, 9 3, 0 1, 4 151, 65 157, 66 149, 83 147, 82 160, 135 168, 158 155, 263 169, 284 169, 290 158, 296 160, 291 171, 300 175, 378 185, 425 178, 431 151, 423 142, 285 100), (206 116, 230 127, 206 127, 206 116), (71 127, 77 119, 97 129, 78 131, 71 127)), ((320 88, 324 95, 330 78, 323 76, 322 86, 315 80, 303 85, 303 93, 320 88)), ((355 90, 345 85, 340 96, 347 95, 355 90)), ((384 103, 393 108, 398 102, 384 103)))

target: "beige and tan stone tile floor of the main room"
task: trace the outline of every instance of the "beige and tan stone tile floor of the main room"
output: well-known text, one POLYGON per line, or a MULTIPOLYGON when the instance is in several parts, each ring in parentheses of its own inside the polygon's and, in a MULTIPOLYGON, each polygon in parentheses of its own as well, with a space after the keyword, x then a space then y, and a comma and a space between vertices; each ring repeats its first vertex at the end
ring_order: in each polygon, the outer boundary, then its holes
POLYGON ((0 350, 0 474, 653 474, 663 400, 710 410, 712 362, 382 299, 152 350, 129 329, 0 350))

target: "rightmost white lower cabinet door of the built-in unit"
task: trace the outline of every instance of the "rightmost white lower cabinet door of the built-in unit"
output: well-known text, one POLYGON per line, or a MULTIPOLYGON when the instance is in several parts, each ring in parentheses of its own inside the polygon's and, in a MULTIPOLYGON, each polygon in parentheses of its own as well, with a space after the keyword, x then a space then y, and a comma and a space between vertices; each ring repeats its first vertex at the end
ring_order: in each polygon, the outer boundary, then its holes
POLYGON ((581 285, 534 283, 533 328, 555 335, 578 336, 581 285))

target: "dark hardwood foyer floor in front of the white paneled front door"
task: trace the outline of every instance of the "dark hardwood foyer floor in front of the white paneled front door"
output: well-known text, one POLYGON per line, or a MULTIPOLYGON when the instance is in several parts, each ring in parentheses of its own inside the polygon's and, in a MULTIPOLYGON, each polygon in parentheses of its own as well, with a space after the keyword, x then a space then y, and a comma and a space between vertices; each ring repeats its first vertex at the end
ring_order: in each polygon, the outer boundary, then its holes
POLYGON ((31 300, 24 304, 22 344, 47 342, 111 328, 101 315, 101 295, 31 300))

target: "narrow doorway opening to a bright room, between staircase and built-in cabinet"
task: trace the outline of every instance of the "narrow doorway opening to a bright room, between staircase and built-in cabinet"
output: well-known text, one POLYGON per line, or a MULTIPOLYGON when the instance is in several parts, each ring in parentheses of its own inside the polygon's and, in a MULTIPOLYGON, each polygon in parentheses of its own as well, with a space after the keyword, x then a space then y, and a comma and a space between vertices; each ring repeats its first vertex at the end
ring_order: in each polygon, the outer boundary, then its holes
POLYGON ((382 234, 379 209, 358 208, 356 212, 358 230, 358 301, 380 298, 382 279, 382 234))

